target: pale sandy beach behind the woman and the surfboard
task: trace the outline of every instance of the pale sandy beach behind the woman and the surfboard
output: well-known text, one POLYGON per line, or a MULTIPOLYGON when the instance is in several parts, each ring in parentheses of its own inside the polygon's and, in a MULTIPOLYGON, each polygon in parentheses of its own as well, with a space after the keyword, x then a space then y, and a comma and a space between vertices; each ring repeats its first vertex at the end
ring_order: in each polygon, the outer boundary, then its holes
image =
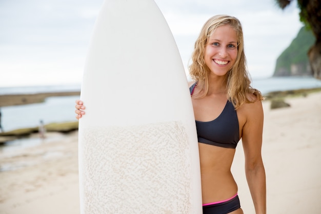
MULTIPOLYGON (((268 213, 319 213, 321 92, 286 102, 291 107, 273 110, 263 102, 268 213)), ((33 147, 0 150, 0 166, 15 168, 0 172, 1 214, 79 214, 77 134, 47 133, 33 147)), ((232 172, 244 213, 254 214, 242 143, 232 172)))

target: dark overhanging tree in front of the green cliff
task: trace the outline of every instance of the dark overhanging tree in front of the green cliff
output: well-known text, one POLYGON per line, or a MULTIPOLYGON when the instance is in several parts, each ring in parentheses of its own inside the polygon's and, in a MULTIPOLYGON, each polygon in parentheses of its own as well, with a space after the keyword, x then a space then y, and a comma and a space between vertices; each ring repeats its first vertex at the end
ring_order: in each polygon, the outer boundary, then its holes
MULTIPOLYGON (((293 0, 275 0, 282 9, 286 8, 293 0)), ((300 21, 312 30, 316 40, 308 51, 309 62, 313 76, 321 80, 321 1, 297 0, 300 9, 300 21)))

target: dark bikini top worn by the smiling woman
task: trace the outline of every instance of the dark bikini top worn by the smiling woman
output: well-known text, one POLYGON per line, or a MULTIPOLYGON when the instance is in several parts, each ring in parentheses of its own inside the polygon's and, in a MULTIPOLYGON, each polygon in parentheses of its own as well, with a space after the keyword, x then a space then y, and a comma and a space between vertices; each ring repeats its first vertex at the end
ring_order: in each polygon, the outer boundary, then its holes
MULTIPOLYGON (((191 95, 194 92, 195 86, 196 83, 190 87, 191 95)), ((213 121, 195 122, 199 143, 236 148, 239 141, 238 119, 236 110, 230 101, 227 101, 222 113, 213 121)))

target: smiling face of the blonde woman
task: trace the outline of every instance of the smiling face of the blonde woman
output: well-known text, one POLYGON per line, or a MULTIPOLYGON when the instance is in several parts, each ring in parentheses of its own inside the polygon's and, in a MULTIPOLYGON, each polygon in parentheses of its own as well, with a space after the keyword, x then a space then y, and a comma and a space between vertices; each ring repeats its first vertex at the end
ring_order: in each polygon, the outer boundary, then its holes
POLYGON ((211 75, 224 76, 237 57, 237 33, 229 25, 217 27, 205 46, 205 64, 211 75))

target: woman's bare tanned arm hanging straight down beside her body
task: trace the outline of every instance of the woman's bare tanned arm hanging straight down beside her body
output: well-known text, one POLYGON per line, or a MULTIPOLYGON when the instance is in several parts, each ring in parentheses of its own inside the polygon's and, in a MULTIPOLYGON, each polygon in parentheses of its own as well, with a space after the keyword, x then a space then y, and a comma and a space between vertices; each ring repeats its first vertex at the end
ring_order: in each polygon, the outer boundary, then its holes
POLYGON ((266 214, 266 176, 262 160, 263 107, 262 102, 245 104, 246 122, 242 131, 245 173, 256 214, 266 214))

